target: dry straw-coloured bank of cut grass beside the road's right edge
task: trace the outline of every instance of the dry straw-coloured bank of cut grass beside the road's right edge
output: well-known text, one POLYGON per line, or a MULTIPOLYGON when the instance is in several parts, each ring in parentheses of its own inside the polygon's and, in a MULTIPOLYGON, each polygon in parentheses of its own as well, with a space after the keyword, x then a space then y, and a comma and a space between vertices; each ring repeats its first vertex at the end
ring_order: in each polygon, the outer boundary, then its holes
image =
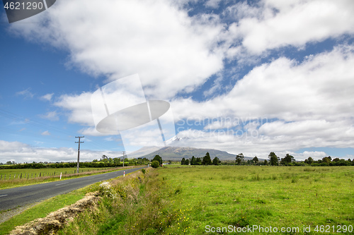
POLYGON ((88 193, 85 198, 82 198, 72 205, 51 212, 50 215, 47 215, 45 218, 35 219, 33 222, 16 227, 11 231, 10 235, 53 234, 55 231, 64 227, 64 224, 72 221, 79 212, 90 207, 95 207, 98 200, 101 200, 101 197, 98 197, 98 192, 88 193))

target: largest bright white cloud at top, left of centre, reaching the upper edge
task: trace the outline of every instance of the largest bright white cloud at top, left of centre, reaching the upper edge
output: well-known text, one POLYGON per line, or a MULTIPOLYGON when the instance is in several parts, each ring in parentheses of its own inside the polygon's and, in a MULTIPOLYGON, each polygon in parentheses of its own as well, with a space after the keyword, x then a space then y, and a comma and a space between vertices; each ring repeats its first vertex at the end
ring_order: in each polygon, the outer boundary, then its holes
POLYGON ((223 54, 213 49, 223 25, 190 18, 169 1, 58 1, 28 21, 45 17, 46 24, 14 23, 12 30, 67 48, 87 73, 110 80, 139 73, 152 97, 193 90, 223 68, 223 54))

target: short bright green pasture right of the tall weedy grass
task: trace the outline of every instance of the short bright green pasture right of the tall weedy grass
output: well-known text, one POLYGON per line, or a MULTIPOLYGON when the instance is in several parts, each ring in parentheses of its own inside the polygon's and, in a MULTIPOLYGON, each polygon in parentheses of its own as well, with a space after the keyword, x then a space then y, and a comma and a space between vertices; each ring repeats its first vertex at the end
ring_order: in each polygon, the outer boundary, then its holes
POLYGON ((299 227, 285 234, 304 234, 303 226, 311 226, 307 234, 317 234, 316 225, 354 226, 353 167, 208 166, 159 174, 171 188, 170 210, 184 215, 164 234, 208 234, 207 225, 299 227))

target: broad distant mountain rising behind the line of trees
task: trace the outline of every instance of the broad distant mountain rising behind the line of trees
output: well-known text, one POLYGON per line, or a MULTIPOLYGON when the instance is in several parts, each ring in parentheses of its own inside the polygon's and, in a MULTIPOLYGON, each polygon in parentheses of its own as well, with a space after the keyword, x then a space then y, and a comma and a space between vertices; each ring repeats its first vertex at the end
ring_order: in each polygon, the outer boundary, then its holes
MULTIPOLYGON (((209 152, 211 159, 214 157, 219 157, 220 160, 234 160, 236 155, 230 154, 229 152, 206 149, 206 148, 195 148, 195 147, 163 147, 156 150, 148 155, 141 157, 146 157, 147 159, 153 159, 155 155, 159 155, 164 160, 181 161, 183 157, 191 158, 194 157, 204 157, 205 154, 209 152)), ((128 155, 130 157, 130 155, 128 155)), ((244 157, 245 160, 252 159, 253 157, 244 157)))

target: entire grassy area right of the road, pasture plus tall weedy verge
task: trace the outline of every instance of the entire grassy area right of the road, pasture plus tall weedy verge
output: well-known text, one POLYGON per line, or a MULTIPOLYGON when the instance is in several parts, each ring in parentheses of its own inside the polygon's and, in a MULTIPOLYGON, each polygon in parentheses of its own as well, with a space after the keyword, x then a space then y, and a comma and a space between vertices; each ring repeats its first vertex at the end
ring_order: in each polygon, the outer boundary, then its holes
POLYGON ((164 167, 59 234, 353 234, 353 180, 353 167, 164 167))

